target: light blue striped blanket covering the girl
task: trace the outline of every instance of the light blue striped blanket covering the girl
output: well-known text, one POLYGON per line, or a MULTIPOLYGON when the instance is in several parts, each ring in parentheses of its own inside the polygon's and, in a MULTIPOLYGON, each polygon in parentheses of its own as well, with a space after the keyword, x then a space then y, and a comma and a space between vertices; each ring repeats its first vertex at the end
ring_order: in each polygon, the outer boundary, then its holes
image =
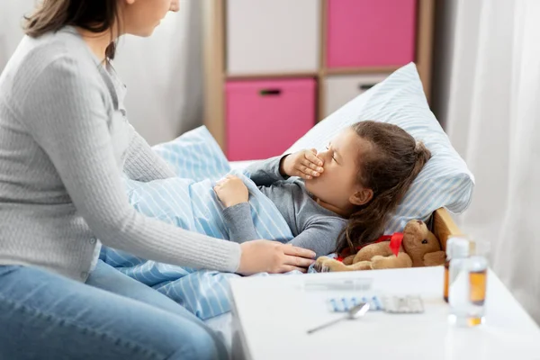
MULTIPOLYGON (((229 239, 222 206, 212 190, 215 181, 238 175, 249 189, 249 203, 259 238, 286 242, 293 234, 281 213, 257 189, 248 174, 231 172, 229 162, 205 127, 154 148, 178 177, 150 183, 125 181, 130 203, 147 216, 175 226, 229 239)), ((103 247, 101 258, 122 273, 182 304, 202 320, 230 310, 229 279, 238 275, 169 266, 103 247)))

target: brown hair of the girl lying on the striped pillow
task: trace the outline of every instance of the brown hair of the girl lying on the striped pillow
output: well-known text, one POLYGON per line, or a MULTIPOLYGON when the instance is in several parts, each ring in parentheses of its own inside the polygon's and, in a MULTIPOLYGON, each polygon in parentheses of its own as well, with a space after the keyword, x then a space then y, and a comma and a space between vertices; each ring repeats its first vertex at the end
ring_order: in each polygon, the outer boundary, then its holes
POLYGON ((338 252, 373 242, 384 231, 387 217, 395 211, 431 153, 407 131, 386 122, 361 121, 352 125, 356 134, 372 144, 359 157, 359 184, 374 191, 373 199, 358 206, 338 238, 338 252))

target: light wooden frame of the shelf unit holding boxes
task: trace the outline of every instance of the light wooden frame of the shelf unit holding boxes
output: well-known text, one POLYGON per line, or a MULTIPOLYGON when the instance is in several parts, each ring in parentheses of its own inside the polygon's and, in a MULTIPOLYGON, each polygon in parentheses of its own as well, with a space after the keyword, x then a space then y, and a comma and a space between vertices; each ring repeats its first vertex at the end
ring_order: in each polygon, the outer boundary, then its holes
MULTIPOLYGON (((317 0, 313 0, 317 1, 317 0)), ((202 0, 203 3, 203 61, 204 61, 204 119, 203 123, 220 144, 226 148, 226 119, 225 119, 225 84, 229 80, 249 79, 279 79, 313 77, 318 86, 317 119, 324 118, 325 112, 325 81, 328 76, 362 75, 362 74, 391 74, 399 67, 344 67, 328 68, 327 53, 327 24, 328 3, 332 0, 320 1, 320 67, 318 71, 254 73, 229 75, 227 73, 227 0, 202 0)), ((431 89, 433 27, 435 16, 435 0, 417 0, 416 17, 416 47, 415 62, 419 75, 428 96, 431 89)))

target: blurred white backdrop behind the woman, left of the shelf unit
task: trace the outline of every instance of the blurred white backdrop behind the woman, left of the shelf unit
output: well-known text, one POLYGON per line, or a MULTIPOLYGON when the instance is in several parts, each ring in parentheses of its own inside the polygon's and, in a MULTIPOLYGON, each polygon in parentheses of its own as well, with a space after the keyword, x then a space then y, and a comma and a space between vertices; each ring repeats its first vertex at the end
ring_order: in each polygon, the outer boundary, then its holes
MULTIPOLYGON (((23 38, 37 0, 0 0, 0 71, 23 38)), ((129 119, 150 144, 202 124, 202 4, 181 1, 148 39, 123 37, 115 67, 128 85, 129 119)))

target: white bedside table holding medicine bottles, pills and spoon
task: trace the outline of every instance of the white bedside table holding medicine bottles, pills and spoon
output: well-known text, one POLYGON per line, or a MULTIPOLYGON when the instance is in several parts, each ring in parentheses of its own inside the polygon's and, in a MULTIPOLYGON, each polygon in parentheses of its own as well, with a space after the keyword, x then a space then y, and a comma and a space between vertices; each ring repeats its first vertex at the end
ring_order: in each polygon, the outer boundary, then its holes
POLYGON ((233 358, 299 359, 540 359, 540 329, 493 273, 488 274, 486 324, 472 329, 447 322, 443 267, 236 279, 233 358), (325 300, 344 292, 306 292, 313 279, 372 278, 384 293, 422 296, 423 314, 369 311, 312 335, 307 329, 335 319, 325 300))

